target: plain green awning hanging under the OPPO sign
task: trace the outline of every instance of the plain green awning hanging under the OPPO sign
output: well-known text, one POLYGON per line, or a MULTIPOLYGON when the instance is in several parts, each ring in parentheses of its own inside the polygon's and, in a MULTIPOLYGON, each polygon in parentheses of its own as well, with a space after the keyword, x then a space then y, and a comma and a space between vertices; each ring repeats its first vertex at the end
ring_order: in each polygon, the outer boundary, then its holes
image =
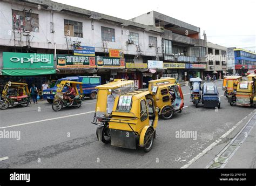
POLYGON ((2 75, 23 76, 23 75, 46 75, 55 74, 55 69, 2 69, 2 75))

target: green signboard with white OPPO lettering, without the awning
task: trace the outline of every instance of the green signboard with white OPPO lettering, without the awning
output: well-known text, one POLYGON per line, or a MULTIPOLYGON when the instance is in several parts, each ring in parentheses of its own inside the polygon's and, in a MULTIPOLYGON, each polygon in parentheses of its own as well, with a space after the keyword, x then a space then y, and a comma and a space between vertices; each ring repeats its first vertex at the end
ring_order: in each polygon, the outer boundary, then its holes
POLYGON ((53 54, 3 52, 5 69, 54 68, 53 54))

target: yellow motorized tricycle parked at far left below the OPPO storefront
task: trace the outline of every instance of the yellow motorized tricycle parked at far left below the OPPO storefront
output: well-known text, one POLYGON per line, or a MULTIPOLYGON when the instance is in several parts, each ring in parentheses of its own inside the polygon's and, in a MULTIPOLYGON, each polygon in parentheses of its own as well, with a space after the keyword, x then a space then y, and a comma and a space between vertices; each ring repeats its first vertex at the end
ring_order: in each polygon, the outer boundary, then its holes
POLYGON ((8 82, 2 92, 3 100, 0 101, 0 108, 6 109, 11 106, 27 107, 29 105, 28 84, 19 82, 8 82))

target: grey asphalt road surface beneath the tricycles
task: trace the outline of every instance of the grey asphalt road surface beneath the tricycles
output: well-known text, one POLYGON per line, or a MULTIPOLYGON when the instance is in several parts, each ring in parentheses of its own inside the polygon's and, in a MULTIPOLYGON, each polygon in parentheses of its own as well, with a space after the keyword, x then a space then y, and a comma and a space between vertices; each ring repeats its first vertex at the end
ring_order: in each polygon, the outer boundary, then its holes
MULTIPOLYGON (((223 95, 222 81, 216 84, 219 95, 223 95)), ((171 120, 159 119, 159 136, 149 153, 98 142, 97 126, 91 123, 96 100, 88 99, 78 109, 63 108, 60 112, 54 112, 46 101, 0 111, 0 131, 21 133, 20 140, 0 139, 0 168, 188 167, 220 137, 220 144, 229 141, 232 133, 245 125, 244 118, 254 112, 252 107, 231 107, 224 96, 221 96, 221 108, 217 111, 202 105, 196 108, 190 102, 188 87, 182 90, 183 112, 171 120), (180 130, 197 135, 193 139, 177 138, 176 132, 180 130)))

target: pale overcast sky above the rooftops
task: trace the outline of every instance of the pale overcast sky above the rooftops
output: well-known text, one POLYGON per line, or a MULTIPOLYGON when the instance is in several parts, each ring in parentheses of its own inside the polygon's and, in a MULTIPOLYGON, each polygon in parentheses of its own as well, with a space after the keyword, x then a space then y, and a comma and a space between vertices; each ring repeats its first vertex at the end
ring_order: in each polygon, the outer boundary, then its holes
POLYGON ((151 10, 158 11, 200 27, 201 35, 205 30, 208 42, 226 47, 242 47, 256 52, 255 0, 54 1, 123 19, 131 19, 151 10))

